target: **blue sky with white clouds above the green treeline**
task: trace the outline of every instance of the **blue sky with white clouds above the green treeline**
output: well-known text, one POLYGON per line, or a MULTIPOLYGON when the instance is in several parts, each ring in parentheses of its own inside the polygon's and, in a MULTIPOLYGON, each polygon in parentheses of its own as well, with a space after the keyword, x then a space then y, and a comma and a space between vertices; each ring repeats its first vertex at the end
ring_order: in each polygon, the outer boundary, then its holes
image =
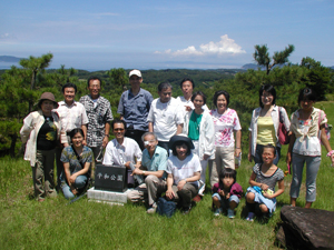
POLYGON ((0 3, 0 56, 53 54, 50 68, 229 69, 269 54, 334 66, 333 0, 11 0, 0 3))

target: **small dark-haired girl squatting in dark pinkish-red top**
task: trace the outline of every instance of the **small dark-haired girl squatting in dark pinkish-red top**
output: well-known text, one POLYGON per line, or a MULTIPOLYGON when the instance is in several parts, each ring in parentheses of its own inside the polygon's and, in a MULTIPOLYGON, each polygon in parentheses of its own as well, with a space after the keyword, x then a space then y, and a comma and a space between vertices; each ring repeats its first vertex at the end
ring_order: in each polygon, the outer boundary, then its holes
POLYGON ((213 187, 213 202, 215 216, 223 213, 223 209, 227 210, 227 217, 235 217, 234 210, 239 204, 243 196, 243 188, 236 182, 236 171, 230 168, 224 168, 219 173, 219 182, 213 187))

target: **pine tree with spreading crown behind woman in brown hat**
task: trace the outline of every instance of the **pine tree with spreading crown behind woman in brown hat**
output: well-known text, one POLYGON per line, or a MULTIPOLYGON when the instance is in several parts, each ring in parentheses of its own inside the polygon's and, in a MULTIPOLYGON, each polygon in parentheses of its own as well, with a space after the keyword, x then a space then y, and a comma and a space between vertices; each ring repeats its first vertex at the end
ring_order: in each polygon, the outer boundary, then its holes
MULTIPOLYGON (((29 59, 22 59, 20 61, 20 66, 22 66, 24 70, 31 73, 30 90, 35 90, 36 77, 38 72, 43 71, 46 68, 49 67, 52 57, 53 57, 52 53, 42 54, 40 58, 30 56, 29 59)), ((30 99, 29 112, 32 111, 32 107, 33 107, 33 100, 30 99)))

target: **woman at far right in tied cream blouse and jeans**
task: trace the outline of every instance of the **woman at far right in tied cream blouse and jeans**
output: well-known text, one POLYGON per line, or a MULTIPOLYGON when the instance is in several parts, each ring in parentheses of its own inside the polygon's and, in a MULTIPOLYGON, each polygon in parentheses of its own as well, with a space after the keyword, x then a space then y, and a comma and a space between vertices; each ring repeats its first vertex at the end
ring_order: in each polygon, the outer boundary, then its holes
POLYGON ((321 142, 327 150, 327 157, 334 164, 334 150, 332 150, 326 137, 326 114, 323 110, 314 108, 315 92, 305 88, 299 92, 298 103, 301 109, 291 117, 291 141, 286 156, 286 163, 293 167, 293 180, 291 183, 291 204, 296 206, 303 177, 303 168, 306 162, 306 203, 311 208, 316 198, 316 174, 321 164, 321 142))

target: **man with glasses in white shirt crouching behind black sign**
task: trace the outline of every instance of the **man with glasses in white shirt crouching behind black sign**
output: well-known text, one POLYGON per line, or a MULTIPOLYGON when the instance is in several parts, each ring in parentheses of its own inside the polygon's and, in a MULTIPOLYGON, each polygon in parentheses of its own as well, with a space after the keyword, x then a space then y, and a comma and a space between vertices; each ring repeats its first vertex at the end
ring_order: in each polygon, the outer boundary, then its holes
POLYGON ((128 168, 128 183, 134 184, 134 178, 130 170, 130 163, 135 164, 135 168, 141 166, 141 150, 138 143, 131 139, 125 137, 127 124, 124 120, 114 120, 111 122, 111 129, 115 134, 115 139, 109 141, 105 157, 105 166, 125 166, 128 168))

